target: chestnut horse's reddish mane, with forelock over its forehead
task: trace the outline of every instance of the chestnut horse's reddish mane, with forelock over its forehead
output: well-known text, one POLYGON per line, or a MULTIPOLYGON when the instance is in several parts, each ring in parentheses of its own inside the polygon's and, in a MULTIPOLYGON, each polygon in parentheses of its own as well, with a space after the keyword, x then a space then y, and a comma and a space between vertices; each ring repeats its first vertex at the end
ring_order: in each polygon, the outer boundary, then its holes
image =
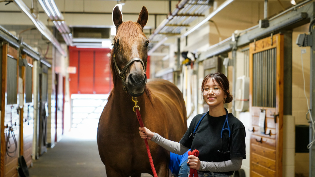
MULTIPOLYGON (((116 36, 114 37, 114 43, 119 39, 118 51, 121 51, 123 57, 126 57, 131 52, 131 47, 134 43, 137 42, 139 35, 143 34, 143 28, 139 23, 133 22, 131 20, 123 22, 118 26, 116 36), (122 50, 123 49, 123 50, 122 50)), ((116 47, 113 45, 113 48, 116 47)), ((114 65, 114 50, 112 49, 111 54, 111 71, 113 76, 113 89, 108 96, 108 99, 113 94, 115 89, 115 83, 120 82, 120 77, 117 76, 115 65, 114 65)), ((122 88, 121 88, 122 89, 122 88)), ((152 100, 151 91, 147 86, 145 86, 144 92, 149 97, 149 100, 152 100)))

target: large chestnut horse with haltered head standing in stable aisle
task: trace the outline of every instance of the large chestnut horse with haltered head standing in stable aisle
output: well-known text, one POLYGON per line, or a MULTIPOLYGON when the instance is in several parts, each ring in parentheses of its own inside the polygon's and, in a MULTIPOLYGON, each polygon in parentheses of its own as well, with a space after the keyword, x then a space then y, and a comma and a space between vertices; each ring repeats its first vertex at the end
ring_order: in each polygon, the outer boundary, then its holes
MULTIPOLYGON (((148 19, 147 9, 143 6, 137 22, 123 22, 117 6, 112 18, 117 30, 111 51, 114 87, 98 125, 100 158, 108 177, 134 177, 141 173, 153 175, 145 142, 139 136, 140 125, 133 111, 135 103, 131 96, 139 101, 144 125, 177 142, 187 129, 185 102, 180 90, 169 81, 148 79, 146 83, 149 41, 143 27, 148 19), (120 71, 122 73, 119 74, 120 71)), ((152 141, 149 141, 149 146, 158 177, 168 176, 169 151, 152 141)))

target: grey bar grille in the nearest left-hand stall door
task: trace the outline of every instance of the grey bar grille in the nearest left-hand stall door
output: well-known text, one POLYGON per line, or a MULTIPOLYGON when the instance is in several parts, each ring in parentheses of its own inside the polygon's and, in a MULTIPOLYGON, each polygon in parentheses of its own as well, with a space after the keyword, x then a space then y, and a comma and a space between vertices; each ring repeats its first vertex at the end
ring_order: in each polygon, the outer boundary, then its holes
POLYGON ((17 103, 17 60, 8 56, 7 104, 17 103))

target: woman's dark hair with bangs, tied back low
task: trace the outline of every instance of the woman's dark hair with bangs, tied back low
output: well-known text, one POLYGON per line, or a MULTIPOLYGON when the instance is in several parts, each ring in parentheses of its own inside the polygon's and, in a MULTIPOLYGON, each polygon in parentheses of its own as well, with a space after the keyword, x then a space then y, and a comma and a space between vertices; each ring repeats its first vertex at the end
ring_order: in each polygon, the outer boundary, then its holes
POLYGON ((213 81, 217 82, 224 91, 224 94, 226 95, 226 98, 224 100, 224 103, 229 103, 233 100, 232 95, 230 95, 227 90, 230 88, 230 83, 227 77, 220 71, 213 72, 208 74, 206 77, 204 77, 202 84, 201 84, 201 89, 203 89, 204 83, 208 81, 209 78, 212 78, 213 81))

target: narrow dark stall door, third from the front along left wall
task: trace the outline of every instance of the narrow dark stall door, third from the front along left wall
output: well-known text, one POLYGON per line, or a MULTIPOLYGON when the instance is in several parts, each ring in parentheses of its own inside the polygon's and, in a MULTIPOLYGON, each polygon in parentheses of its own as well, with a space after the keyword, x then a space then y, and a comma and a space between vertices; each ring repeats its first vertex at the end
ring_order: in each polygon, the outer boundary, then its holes
POLYGON ((38 153, 42 155, 47 150, 47 117, 48 117, 48 67, 42 64, 39 75, 39 142, 38 153))

